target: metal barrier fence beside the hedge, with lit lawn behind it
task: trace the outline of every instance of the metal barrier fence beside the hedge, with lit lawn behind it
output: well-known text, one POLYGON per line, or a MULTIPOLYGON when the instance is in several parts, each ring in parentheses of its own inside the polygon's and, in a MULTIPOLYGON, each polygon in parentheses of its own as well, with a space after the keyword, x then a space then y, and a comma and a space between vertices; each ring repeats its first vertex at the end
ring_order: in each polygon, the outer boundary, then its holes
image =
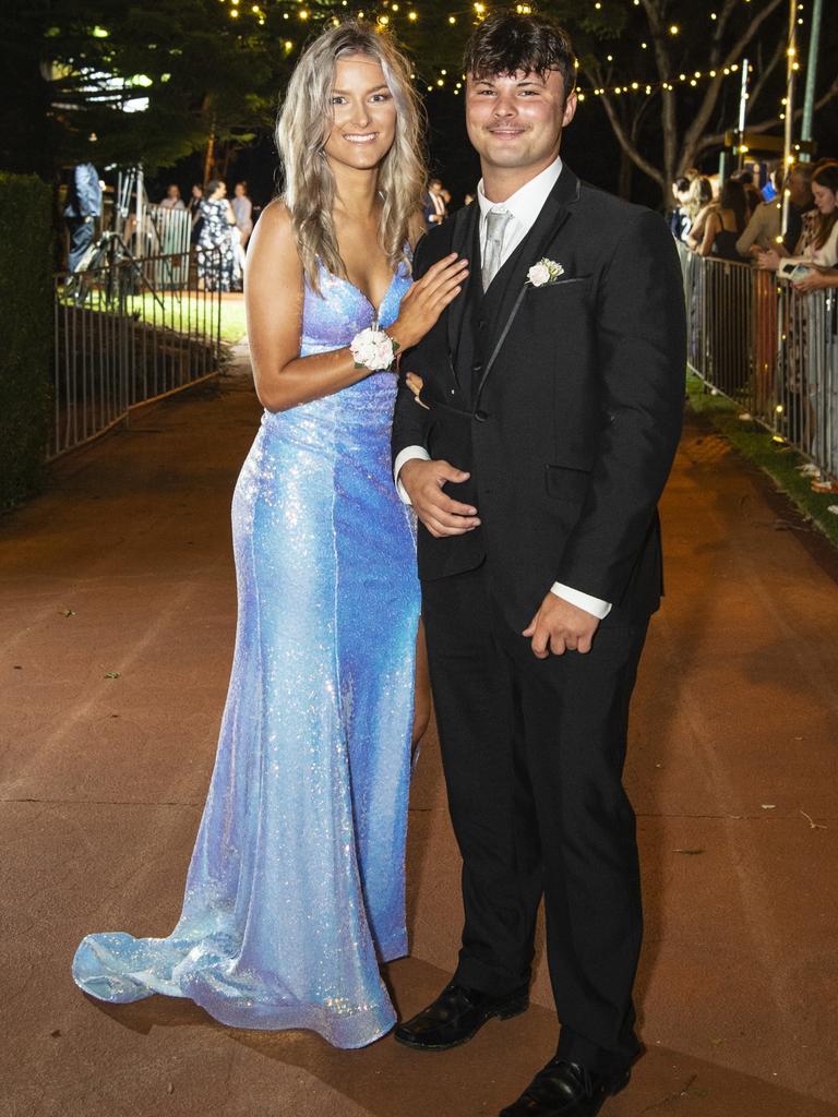
POLYGON ((217 374, 221 294, 207 287, 219 284, 199 279, 188 252, 56 276, 48 460, 125 421, 132 408, 217 374))

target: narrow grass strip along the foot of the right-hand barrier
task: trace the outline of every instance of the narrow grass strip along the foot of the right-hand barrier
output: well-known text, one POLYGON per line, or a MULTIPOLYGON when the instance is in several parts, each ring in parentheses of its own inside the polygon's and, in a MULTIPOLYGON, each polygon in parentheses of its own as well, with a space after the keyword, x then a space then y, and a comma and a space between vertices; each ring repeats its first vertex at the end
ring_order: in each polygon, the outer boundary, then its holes
POLYGON ((815 523, 835 546, 838 546, 838 515, 828 510, 838 507, 838 493, 812 493, 811 477, 799 471, 806 458, 773 436, 753 419, 740 419, 742 408, 725 395, 713 395, 701 376, 687 374, 689 407, 704 416, 749 461, 766 472, 777 488, 784 493, 800 512, 815 523))

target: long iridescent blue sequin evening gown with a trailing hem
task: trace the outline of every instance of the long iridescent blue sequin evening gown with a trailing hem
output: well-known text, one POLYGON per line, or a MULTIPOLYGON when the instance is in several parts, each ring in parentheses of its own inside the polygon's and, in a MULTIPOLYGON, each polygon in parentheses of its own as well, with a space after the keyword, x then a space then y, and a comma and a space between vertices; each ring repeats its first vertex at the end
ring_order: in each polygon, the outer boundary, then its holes
MULTIPOLYGON (((373 308, 321 269, 302 355, 373 308)), ((392 323, 402 266, 379 311, 392 323)), ((88 935, 77 984, 187 996, 238 1028, 355 1048, 394 1013, 379 963, 407 952, 404 836, 419 615, 412 514, 390 468, 392 373, 266 412, 232 504, 239 615, 218 754, 168 938, 88 935)))

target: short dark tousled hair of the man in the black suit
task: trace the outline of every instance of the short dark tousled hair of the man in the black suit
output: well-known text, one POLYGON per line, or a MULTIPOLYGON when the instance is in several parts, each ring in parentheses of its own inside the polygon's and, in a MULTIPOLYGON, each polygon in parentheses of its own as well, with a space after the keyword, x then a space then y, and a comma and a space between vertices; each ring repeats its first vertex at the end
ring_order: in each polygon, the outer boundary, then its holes
POLYGON ((493 12, 475 28, 463 69, 476 78, 518 71, 546 78, 550 70, 559 70, 565 97, 577 84, 577 59, 564 28, 546 16, 514 11, 493 12))

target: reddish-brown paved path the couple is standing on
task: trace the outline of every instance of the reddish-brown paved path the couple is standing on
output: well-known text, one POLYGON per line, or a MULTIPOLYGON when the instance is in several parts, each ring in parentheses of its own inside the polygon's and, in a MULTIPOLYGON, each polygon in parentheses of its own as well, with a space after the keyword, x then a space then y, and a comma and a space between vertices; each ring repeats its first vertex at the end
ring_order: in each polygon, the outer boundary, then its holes
MULTIPOLYGON (((425 1057, 235 1031, 163 997, 103 1006, 70 981, 86 932, 164 935, 180 910, 232 651, 230 494, 257 422, 239 370, 68 458, 0 522, 2 1117, 492 1117, 552 1052, 543 956, 528 1013, 425 1057)), ((835 1115, 832 555, 696 427, 664 528, 627 772, 648 1054, 604 1114, 835 1115)), ((413 953, 389 967, 402 1014, 453 967, 458 873, 431 733, 413 953)))

